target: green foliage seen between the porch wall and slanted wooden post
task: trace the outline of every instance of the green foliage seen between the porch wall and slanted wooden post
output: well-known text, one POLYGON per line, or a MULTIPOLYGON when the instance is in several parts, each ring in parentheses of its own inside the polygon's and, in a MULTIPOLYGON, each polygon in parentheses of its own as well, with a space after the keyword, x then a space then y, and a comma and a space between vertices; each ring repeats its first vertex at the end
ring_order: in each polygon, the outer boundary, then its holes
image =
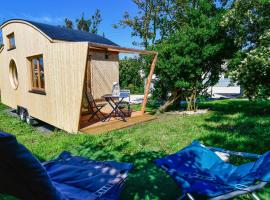
POLYGON ((130 89, 132 93, 143 93, 144 74, 141 57, 125 57, 119 63, 120 85, 130 89))

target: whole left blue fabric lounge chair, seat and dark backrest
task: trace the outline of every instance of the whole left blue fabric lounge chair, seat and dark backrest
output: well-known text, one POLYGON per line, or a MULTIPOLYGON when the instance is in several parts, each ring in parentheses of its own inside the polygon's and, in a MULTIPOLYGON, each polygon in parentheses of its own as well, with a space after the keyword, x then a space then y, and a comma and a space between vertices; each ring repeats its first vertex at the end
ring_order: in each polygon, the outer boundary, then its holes
POLYGON ((130 163, 100 162, 69 152, 40 163, 4 132, 0 160, 0 193, 22 200, 116 200, 132 168, 130 163))

